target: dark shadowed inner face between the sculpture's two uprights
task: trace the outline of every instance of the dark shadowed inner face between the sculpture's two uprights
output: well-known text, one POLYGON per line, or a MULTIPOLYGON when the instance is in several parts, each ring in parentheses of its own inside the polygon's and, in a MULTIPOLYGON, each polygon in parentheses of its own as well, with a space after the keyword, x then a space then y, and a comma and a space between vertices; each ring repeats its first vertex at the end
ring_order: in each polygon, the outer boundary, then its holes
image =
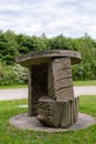
POLYGON ((34 114, 38 114, 38 100, 47 96, 47 64, 32 65, 32 105, 34 114))

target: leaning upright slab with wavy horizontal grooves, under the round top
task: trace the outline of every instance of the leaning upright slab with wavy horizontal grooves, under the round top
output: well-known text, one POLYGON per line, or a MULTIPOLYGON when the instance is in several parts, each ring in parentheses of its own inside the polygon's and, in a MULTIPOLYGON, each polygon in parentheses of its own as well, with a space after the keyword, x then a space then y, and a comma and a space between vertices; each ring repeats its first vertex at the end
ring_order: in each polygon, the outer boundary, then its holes
POLYGON ((54 93, 57 102, 66 102, 74 99, 73 79, 70 58, 54 59, 52 62, 54 76, 54 93), (64 75, 65 74, 65 75, 64 75))

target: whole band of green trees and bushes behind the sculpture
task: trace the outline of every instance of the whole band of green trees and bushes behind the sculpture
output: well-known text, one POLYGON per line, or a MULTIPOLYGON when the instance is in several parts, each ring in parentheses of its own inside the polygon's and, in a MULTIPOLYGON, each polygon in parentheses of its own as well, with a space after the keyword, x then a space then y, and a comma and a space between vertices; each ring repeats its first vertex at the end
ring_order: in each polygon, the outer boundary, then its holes
POLYGON ((28 70, 17 65, 15 56, 44 50, 76 50, 83 61, 72 68, 73 78, 77 80, 96 80, 96 40, 87 33, 81 38, 54 38, 15 34, 13 31, 0 31, 0 85, 26 83, 28 70))

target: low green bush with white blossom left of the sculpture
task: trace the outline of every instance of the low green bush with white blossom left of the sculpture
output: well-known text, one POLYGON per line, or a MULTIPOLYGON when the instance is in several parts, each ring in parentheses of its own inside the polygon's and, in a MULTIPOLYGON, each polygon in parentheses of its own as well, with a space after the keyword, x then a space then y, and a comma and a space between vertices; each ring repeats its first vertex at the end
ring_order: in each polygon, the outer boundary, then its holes
POLYGON ((6 65, 0 63, 0 85, 25 84, 28 82, 28 70, 21 65, 6 65))

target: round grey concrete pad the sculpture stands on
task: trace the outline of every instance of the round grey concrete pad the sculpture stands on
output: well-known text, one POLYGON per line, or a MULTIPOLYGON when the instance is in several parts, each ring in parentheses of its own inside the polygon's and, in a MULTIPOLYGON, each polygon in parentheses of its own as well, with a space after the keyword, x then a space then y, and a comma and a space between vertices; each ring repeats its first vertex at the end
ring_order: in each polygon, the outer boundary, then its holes
POLYGON ((63 132, 63 131, 76 131, 86 128, 96 123, 95 117, 79 113, 78 120, 68 128, 53 128, 44 126, 36 116, 28 116, 26 113, 13 116, 10 119, 10 123, 18 128, 32 130, 32 131, 44 131, 44 132, 63 132))

